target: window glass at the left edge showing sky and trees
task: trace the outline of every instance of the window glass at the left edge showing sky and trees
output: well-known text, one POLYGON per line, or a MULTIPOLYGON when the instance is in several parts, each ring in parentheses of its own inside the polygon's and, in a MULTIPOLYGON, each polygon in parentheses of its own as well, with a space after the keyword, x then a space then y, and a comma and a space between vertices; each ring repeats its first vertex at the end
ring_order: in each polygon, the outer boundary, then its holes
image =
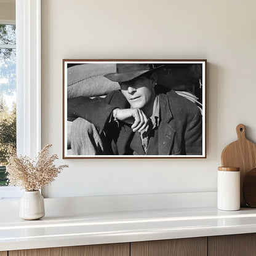
POLYGON ((0 24, 0 186, 6 186, 6 156, 16 150, 15 25, 0 24))

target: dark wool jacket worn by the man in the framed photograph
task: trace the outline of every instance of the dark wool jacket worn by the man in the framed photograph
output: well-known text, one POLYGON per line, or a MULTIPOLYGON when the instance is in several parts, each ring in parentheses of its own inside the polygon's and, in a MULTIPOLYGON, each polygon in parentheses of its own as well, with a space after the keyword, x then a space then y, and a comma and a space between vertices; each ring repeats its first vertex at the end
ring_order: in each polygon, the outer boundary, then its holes
MULTIPOLYGON (((149 155, 201 155, 202 116, 199 108, 174 90, 159 94, 160 122, 148 145, 149 155)), ((68 100, 68 120, 80 117, 104 131, 113 154, 144 155, 140 134, 128 124, 110 122, 114 108, 130 108, 124 95, 116 90, 105 98, 92 100, 78 97, 68 100)))

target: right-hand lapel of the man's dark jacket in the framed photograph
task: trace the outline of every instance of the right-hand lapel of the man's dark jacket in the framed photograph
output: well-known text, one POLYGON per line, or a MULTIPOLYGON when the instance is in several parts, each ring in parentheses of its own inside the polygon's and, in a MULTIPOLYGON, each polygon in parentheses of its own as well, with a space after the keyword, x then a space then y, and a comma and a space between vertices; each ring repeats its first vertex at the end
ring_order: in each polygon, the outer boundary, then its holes
POLYGON ((162 120, 158 128, 158 153, 159 155, 169 155, 172 151, 176 132, 171 126, 174 118, 166 94, 159 94, 159 103, 162 120))

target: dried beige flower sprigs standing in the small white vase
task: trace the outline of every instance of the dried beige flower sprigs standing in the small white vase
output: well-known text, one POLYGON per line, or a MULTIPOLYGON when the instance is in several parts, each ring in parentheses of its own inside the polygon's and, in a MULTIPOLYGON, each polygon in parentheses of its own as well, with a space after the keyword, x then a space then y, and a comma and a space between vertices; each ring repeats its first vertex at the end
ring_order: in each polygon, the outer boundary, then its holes
POLYGON ((35 161, 28 156, 10 155, 6 166, 9 186, 21 186, 25 191, 37 191, 53 182, 61 170, 68 166, 54 165, 58 156, 57 154, 48 156, 51 146, 50 144, 44 146, 35 161))

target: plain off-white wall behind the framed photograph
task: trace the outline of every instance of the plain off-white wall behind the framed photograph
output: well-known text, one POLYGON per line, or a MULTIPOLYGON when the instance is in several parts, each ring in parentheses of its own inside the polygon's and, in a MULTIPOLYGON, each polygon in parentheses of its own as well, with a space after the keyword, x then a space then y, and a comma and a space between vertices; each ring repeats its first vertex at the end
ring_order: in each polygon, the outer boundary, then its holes
POLYGON ((63 58, 207 58, 207 159, 72 159, 46 196, 216 191, 223 147, 256 142, 254 0, 42 1, 42 145, 62 158, 63 58))

